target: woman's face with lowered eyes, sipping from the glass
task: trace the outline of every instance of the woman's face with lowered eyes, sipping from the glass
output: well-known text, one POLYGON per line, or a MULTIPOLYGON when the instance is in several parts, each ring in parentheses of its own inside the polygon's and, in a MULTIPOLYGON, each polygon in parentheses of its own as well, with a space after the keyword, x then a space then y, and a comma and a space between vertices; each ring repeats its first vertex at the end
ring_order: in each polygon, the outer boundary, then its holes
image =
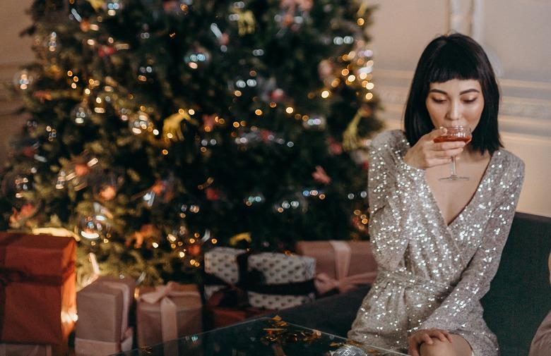
POLYGON ((426 104, 435 128, 468 126, 474 131, 484 109, 484 96, 478 80, 452 79, 430 83, 426 104))

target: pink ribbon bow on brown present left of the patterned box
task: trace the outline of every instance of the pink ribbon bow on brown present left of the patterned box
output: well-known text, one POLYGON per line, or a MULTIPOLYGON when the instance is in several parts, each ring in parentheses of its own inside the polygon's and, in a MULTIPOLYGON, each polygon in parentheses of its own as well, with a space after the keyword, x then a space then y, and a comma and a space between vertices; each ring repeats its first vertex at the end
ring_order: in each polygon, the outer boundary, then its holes
POLYGON ((201 297, 197 290, 182 290, 176 282, 168 282, 166 286, 156 286, 153 292, 140 295, 139 300, 148 304, 160 301, 160 319, 162 341, 178 338, 178 319, 176 303, 172 297, 201 297))

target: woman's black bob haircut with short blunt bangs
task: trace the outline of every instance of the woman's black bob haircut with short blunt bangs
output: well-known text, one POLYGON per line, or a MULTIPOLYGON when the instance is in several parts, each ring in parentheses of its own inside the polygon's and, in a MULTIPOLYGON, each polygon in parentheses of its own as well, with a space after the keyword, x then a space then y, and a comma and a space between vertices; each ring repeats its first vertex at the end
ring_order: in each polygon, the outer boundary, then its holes
POLYGON ((434 129, 427 111, 426 99, 432 82, 452 79, 478 80, 484 97, 480 122, 473 131, 473 149, 493 154, 503 147, 497 130, 499 87, 494 70, 480 44, 454 33, 433 39, 421 54, 405 106, 405 137, 410 146, 434 129))

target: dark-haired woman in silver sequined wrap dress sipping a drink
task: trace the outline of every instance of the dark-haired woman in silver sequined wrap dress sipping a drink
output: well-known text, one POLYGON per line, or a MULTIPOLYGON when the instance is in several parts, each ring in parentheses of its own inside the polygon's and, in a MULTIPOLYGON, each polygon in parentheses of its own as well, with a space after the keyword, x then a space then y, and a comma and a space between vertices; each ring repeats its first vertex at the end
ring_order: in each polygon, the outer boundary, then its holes
POLYGON ((454 34, 423 51, 405 108, 405 132, 372 141, 369 231, 379 276, 348 337, 413 356, 498 355, 480 298, 499 265, 524 176, 502 149, 499 89, 490 61, 454 34), (473 140, 435 143, 468 126, 473 140), (451 156, 469 180, 449 176, 451 156))

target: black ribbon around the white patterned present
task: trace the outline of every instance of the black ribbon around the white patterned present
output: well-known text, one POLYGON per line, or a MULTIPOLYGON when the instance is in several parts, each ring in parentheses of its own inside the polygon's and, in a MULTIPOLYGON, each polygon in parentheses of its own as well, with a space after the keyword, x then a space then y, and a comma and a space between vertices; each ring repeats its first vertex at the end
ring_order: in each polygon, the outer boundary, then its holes
POLYGON ((314 293, 314 279, 309 279, 302 282, 289 283, 274 283, 266 284, 265 278, 261 271, 257 269, 249 270, 249 257, 253 254, 250 251, 238 254, 237 266, 238 277, 237 283, 227 283, 218 276, 206 274, 204 276, 205 285, 225 286, 222 290, 218 290, 207 301, 210 307, 226 306, 226 307, 244 307, 249 305, 247 300, 247 292, 255 292, 268 295, 309 295, 314 293), (228 302, 228 300, 230 302, 228 302))

